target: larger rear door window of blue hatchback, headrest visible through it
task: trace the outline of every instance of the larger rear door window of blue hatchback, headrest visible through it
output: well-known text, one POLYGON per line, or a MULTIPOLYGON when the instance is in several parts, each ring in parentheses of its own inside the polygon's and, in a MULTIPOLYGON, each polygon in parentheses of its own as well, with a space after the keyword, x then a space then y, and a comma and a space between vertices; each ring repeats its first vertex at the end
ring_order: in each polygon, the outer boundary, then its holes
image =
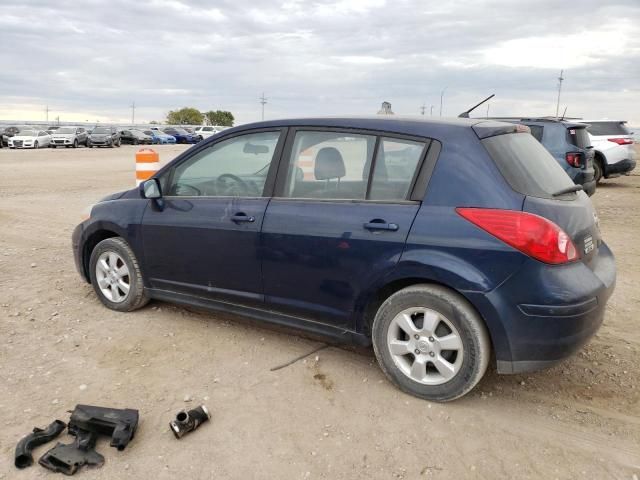
POLYGON ((375 143, 370 135, 297 132, 284 196, 364 199, 375 143))

